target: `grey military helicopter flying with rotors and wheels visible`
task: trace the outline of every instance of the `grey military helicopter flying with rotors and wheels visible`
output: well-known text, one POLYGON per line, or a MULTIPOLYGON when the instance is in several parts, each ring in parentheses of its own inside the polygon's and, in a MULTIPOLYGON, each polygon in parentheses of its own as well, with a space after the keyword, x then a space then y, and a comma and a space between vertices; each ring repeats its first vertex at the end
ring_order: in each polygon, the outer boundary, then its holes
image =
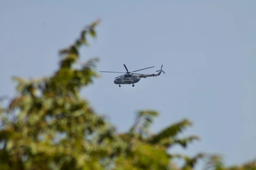
MULTIPOLYGON (((134 87, 134 84, 138 83, 141 78, 147 78, 147 77, 152 77, 152 76, 157 77, 161 74, 161 72, 164 73, 164 71, 162 70, 163 65, 162 65, 160 70, 156 71, 156 72, 160 71, 158 74, 137 74, 137 73, 133 73, 133 72, 136 72, 136 71, 145 70, 145 69, 152 68, 152 67, 148 67, 148 68, 144 68, 144 69, 129 72, 125 64, 124 64, 124 66, 125 66, 125 69, 127 71, 126 73, 125 72, 111 72, 111 71, 100 71, 100 72, 125 73, 121 76, 116 77, 115 80, 114 80, 114 84, 119 84, 119 87, 121 87, 120 84, 132 84, 132 87, 134 87)), ((155 66, 153 66, 153 67, 155 67, 155 66)))

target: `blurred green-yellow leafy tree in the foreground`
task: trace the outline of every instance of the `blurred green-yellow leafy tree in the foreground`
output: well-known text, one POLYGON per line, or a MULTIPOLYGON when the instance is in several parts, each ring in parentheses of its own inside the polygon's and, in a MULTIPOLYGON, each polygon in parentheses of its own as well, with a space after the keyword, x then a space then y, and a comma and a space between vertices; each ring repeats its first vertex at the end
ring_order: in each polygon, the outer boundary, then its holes
POLYGON ((60 50, 60 67, 52 76, 25 80, 15 77, 17 92, 9 107, 0 107, 1 170, 169 170, 193 169, 198 159, 206 168, 253 169, 255 161, 240 167, 225 167, 218 156, 199 153, 192 158, 168 152, 174 145, 186 147, 197 136, 177 135, 192 125, 181 120, 157 134, 149 126, 156 111, 142 110, 127 133, 118 134, 103 116, 95 113, 79 91, 98 77, 97 59, 79 67, 79 48, 88 46, 87 37, 96 37, 95 21, 82 30, 80 38, 60 50), (10 118, 10 115, 14 119, 10 118), (174 158, 184 160, 175 166, 174 158))

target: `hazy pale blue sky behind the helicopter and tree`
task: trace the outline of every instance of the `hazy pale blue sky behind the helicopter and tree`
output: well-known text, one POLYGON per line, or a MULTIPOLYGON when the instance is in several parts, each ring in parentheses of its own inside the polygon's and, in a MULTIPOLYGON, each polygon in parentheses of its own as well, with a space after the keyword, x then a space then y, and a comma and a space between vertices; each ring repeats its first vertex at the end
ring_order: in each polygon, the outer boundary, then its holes
POLYGON ((227 165, 256 158, 256 1, 0 1, 0 95, 15 94, 12 76, 40 78, 58 69, 58 51, 100 18, 97 38, 81 49, 81 61, 99 57, 97 71, 137 73, 134 87, 115 85, 119 73, 82 90, 97 113, 119 132, 135 112, 160 113, 153 132, 189 119, 186 135, 200 136, 187 149, 218 153, 227 165))

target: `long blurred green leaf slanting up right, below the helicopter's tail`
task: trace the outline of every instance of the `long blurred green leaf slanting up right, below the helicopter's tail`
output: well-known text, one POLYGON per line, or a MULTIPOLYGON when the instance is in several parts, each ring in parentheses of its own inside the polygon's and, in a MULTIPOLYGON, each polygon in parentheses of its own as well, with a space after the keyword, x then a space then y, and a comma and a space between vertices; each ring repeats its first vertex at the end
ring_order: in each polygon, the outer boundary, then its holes
POLYGON ((174 125, 169 126, 168 128, 162 130, 159 134, 153 136, 151 139, 149 139, 149 143, 156 144, 159 141, 161 141, 164 138, 167 137, 174 137, 179 132, 182 131, 183 128, 192 125, 192 123, 189 120, 183 120, 181 122, 178 122, 174 125))

